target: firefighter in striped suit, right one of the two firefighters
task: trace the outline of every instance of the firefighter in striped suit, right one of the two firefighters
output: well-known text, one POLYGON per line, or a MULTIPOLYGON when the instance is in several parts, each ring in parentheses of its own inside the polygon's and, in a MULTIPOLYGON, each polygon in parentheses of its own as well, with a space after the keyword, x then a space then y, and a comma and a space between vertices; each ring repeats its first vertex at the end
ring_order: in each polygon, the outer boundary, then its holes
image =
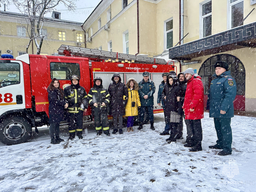
POLYGON ((102 133, 110 135, 108 125, 108 108, 107 105, 110 103, 110 95, 108 90, 102 86, 102 79, 100 76, 96 76, 93 79, 93 87, 88 93, 89 104, 92 107, 94 124, 97 130, 97 135, 102 133))

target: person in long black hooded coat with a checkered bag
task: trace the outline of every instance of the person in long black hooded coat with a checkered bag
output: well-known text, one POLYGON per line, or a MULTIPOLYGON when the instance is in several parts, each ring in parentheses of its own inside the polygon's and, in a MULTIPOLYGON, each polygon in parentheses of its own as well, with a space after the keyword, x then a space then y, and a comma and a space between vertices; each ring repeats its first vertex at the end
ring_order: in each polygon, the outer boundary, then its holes
POLYGON ((177 97, 180 95, 180 90, 177 76, 169 74, 162 92, 162 99, 165 104, 165 123, 169 124, 171 128, 170 137, 166 139, 168 142, 176 141, 176 137, 178 136, 180 112, 178 111, 179 102, 177 101, 177 97))

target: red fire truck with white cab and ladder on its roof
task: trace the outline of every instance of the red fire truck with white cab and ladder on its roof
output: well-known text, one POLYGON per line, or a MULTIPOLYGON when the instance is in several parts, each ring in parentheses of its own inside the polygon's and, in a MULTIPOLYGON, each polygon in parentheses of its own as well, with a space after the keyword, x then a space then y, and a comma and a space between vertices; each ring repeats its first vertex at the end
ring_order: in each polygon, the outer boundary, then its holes
MULTIPOLYGON (((59 48, 59 54, 65 56, 25 54, 16 59, 0 59, 0 140, 4 144, 23 143, 32 127, 37 132, 37 127, 49 125, 47 87, 53 78, 59 79, 62 86, 71 84, 70 77, 76 74, 88 93, 95 76, 101 76, 103 86, 108 88, 116 72, 126 83, 131 77, 141 81, 142 73, 148 71, 156 84, 154 113, 163 112, 156 102, 158 85, 163 72, 175 69, 174 63, 67 45, 59 48)), ((84 120, 91 122, 90 108, 84 113, 84 120)))

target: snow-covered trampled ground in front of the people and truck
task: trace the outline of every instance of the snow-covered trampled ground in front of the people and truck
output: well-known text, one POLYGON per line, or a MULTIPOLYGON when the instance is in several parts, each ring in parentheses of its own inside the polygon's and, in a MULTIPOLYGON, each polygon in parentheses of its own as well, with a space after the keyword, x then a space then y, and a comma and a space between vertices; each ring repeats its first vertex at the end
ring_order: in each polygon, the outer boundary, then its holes
POLYGON ((96 136, 84 130, 83 140, 50 144, 46 128, 35 140, 14 146, 0 144, 0 191, 255 191, 256 118, 235 116, 231 120, 233 153, 218 156, 209 149, 217 140, 213 118, 202 119, 203 151, 189 152, 184 139, 168 144, 164 114, 155 115, 139 131, 96 136))

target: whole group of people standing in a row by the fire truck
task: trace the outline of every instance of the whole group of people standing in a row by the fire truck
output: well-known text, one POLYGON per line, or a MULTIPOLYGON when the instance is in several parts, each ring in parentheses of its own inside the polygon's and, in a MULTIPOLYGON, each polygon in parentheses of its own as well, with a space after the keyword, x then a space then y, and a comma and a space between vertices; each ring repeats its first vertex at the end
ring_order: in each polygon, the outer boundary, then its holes
MULTIPOLYGON (((214 65, 215 74, 210 85, 207 109, 210 109, 210 117, 214 117, 215 129, 218 140, 212 149, 223 149, 218 155, 232 154, 232 131, 230 127, 231 117, 234 116, 233 101, 236 96, 236 82, 228 71, 228 63, 218 61, 214 65)), ((52 79, 47 91, 49 100, 50 136, 51 143, 57 144, 63 141, 59 137, 59 125, 68 116, 69 140, 83 139, 83 112, 88 105, 92 108, 95 129, 97 135, 110 135, 108 123, 109 114, 113 116, 112 134, 123 133, 123 116, 127 116, 127 132, 133 131, 134 116, 139 115, 139 128, 150 121, 150 129, 155 130, 153 94, 156 86, 149 79, 149 72, 144 72, 143 79, 139 83, 130 78, 126 84, 121 82, 119 73, 115 73, 108 89, 102 86, 102 79, 96 76, 93 87, 88 95, 85 89, 79 85, 79 77, 71 77, 71 85, 64 91, 60 88, 60 82, 52 79), (68 115, 65 114, 68 109, 68 115)), ((164 108, 165 128, 160 135, 169 135, 168 143, 182 139, 183 118, 187 127, 187 137, 184 147, 190 147, 189 151, 202 151, 203 131, 201 119, 204 118, 204 86, 201 77, 193 68, 188 68, 176 76, 174 71, 162 74, 163 81, 159 85, 157 103, 164 108)))

